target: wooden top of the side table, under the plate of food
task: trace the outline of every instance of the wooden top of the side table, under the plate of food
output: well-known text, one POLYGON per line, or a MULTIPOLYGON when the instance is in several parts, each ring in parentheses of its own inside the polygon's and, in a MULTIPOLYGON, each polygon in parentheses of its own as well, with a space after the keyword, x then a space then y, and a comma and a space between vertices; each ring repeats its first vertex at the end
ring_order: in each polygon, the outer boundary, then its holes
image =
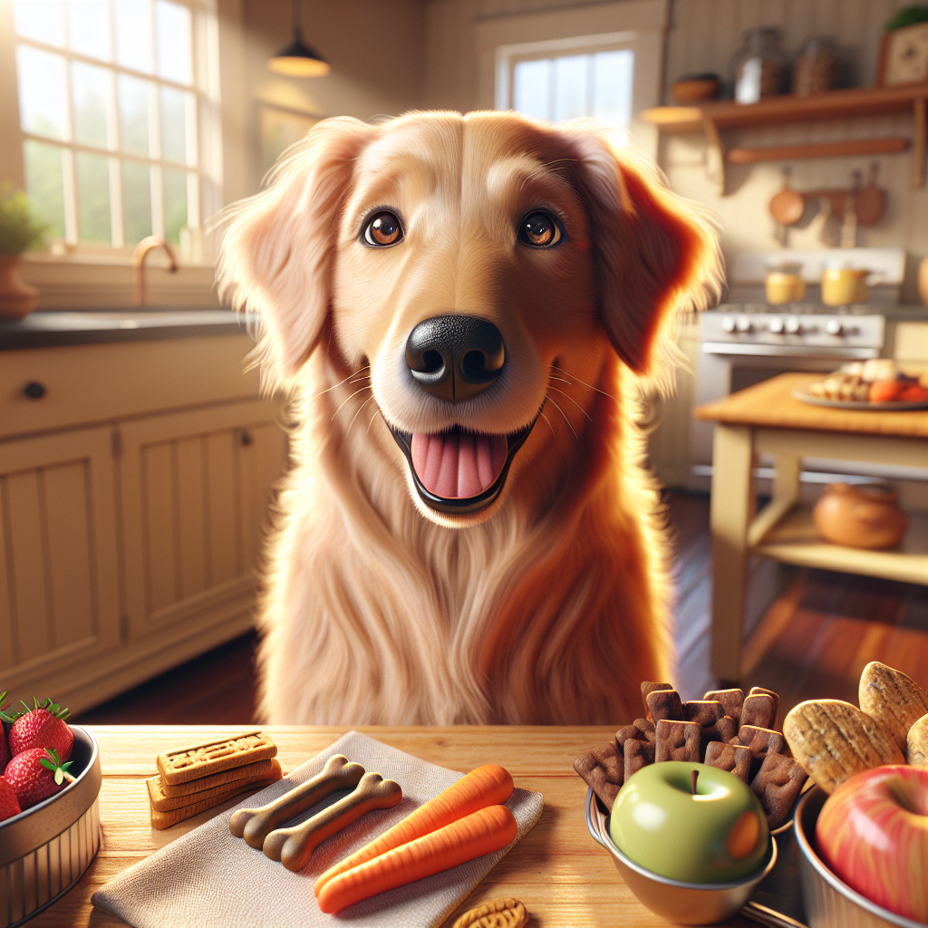
POLYGON ((780 374, 753 387, 731 393, 724 399, 697 406, 697 419, 728 425, 767 426, 775 429, 814 429, 823 432, 857 432, 928 438, 928 409, 905 412, 883 410, 832 409, 811 406, 793 398, 822 374, 780 374))

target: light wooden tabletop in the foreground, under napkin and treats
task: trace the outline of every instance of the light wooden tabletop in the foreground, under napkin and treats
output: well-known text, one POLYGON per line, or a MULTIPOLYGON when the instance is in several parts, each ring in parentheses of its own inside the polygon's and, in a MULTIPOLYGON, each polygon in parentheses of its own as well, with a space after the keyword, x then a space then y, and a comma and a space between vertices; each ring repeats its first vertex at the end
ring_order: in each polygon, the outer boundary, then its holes
MULTIPOLYGON (((167 831, 151 828, 145 778, 161 751, 212 741, 246 727, 87 726, 97 738, 103 768, 100 822, 103 842, 90 869, 70 893, 37 915, 34 928, 124 925, 91 905, 97 887, 153 851, 196 828, 241 797, 203 812, 167 831)), ((299 767, 349 728, 265 728, 277 742, 285 773, 299 767)), ((532 914, 532 928, 638 928, 664 925, 632 896, 612 858, 586 831, 586 783, 573 768, 574 757, 611 740, 613 728, 458 727, 356 728, 372 738, 432 764, 465 772, 481 764, 506 767, 517 786, 537 790, 545 809, 535 828, 517 844, 460 909, 498 896, 521 899, 532 914)), ((459 912, 446 922, 450 925, 459 912)), ((754 922, 735 918, 727 925, 754 922)))

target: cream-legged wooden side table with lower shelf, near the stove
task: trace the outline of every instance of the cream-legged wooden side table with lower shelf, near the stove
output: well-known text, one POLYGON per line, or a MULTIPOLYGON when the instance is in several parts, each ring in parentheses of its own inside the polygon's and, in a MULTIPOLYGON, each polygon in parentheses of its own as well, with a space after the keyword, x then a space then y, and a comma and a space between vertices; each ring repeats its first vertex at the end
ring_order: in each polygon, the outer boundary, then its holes
POLYGON ((928 467, 928 410, 883 412, 810 406, 793 398, 821 374, 780 374, 697 407, 715 421, 713 445, 712 670, 738 680, 747 561, 759 554, 805 567, 928 585, 928 517, 910 514, 899 548, 866 551, 821 541, 800 505, 803 458, 928 467), (773 495, 759 514, 754 465, 776 458, 773 495))

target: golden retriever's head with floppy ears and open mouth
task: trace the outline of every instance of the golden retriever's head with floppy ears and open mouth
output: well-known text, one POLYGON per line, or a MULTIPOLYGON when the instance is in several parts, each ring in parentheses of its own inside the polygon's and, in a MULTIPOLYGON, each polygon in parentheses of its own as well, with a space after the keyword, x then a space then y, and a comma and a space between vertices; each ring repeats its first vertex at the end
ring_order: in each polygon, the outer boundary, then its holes
POLYGON ((672 316, 718 276, 704 215, 642 158, 593 123, 499 112, 320 122, 231 213, 218 272, 264 316, 272 381, 324 333, 367 371, 413 499, 451 525, 492 515, 539 458, 546 402, 555 440, 578 440, 610 350, 665 377, 672 316))

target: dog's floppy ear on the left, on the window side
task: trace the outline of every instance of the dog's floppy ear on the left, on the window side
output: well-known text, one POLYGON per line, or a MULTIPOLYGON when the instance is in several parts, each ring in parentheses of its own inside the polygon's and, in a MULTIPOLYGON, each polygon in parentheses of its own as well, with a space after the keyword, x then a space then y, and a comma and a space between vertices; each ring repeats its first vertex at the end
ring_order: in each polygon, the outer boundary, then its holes
POLYGON ((291 380, 319 341, 345 190, 377 131, 350 117, 319 122, 277 161, 261 193, 220 217, 219 295, 261 314, 257 354, 269 385, 291 380))

